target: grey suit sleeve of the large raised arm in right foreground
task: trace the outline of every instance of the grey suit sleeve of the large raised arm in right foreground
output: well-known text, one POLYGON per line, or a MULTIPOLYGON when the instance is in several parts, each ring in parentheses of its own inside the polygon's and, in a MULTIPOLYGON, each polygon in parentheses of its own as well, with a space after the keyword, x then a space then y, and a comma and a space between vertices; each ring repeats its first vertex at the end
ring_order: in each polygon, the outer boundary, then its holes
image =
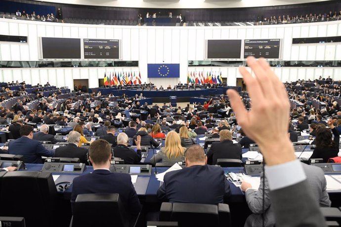
POLYGON ((326 227, 319 205, 307 180, 270 191, 278 227, 326 227))

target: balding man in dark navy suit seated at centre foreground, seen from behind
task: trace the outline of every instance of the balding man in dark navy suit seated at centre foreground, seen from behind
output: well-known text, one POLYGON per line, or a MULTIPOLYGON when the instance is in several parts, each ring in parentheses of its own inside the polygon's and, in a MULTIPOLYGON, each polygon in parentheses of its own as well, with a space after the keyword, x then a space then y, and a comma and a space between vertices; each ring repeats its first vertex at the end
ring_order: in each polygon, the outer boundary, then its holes
POLYGON ((171 171, 157 192, 159 199, 170 202, 223 203, 231 190, 221 167, 207 165, 204 149, 192 145, 185 151, 186 167, 171 171), (199 185, 200 182, 200 185, 199 185))

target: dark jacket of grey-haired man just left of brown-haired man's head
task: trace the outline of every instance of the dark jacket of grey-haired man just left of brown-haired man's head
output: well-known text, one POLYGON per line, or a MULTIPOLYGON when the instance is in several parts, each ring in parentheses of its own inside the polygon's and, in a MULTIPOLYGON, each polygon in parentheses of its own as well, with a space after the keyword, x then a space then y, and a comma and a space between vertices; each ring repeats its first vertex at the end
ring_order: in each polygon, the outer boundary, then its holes
POLYGON ((78 157, 82 163, 87 164, 87 149, 79 148, 76 144, 68 144, 56 149, 56 157, 78 157))

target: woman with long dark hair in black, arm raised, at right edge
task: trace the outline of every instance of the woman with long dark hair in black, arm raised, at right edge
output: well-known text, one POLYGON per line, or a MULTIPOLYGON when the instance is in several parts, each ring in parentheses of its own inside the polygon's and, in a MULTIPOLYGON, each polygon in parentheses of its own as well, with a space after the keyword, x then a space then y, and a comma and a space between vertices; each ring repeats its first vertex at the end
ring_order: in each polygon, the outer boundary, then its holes
POLYGON ((332 140, 332 133, 329 128, 319 127, 316 129, 316 147, 310 158, 323 158, 324 162, 328 162, 329 158, 338 156, 340 134, 334 127, 336 119, 329 119, 328 126, 332 129, 334 140, 332 140))

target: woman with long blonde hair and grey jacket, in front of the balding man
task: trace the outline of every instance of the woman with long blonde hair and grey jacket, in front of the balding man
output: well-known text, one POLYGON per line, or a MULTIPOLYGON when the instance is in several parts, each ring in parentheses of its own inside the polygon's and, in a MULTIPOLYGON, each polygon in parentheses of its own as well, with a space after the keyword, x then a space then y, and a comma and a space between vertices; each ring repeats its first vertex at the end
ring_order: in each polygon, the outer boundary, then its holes
POLYGON ((177 162, 184 162, 185 148, 181 146, 180 136, 175 132, 171 131, 167 134, 165 147, 151 157, 150 162, 155 164, 162 160, 164 165, 173 165, 177 162))

